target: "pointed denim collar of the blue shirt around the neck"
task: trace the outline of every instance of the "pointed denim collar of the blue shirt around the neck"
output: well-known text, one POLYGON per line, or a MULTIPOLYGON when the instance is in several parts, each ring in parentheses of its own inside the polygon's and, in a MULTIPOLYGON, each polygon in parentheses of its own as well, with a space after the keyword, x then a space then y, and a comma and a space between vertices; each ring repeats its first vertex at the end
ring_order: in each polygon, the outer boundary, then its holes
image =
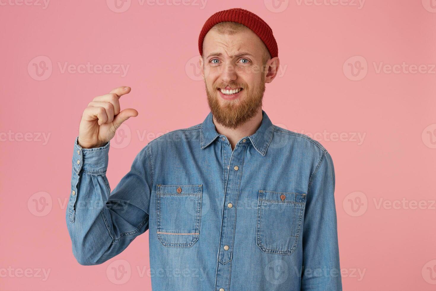
MULTIPOLYGON (((260 124, 260 127, 256 130, 256 132, 248 137, 253 147, 256 149, 256 151, 259 152, 262 156, 266 154, 266 150, 269 146, 269 143, 272 140, 272 132, 274 131, 274 125, 272 124, 271 120, 269 120, 268 115, 265 111, 262 110, 262 123, 260 124)), ((207 147, 209 144, 212 143, 218 136, 221 134, 218 134, 216 131, 215 124, 213 122, 213 115, 212 112, 209 112, 208 116, 204 119, 203 123, 201 123, 201 138, 200 138, 200 144, 201 148, 207 147)), ((242 139, 243 139, 242 138, 242 139)), ((242 142, 239 141, 238 144, 241 144, 242 142)))

